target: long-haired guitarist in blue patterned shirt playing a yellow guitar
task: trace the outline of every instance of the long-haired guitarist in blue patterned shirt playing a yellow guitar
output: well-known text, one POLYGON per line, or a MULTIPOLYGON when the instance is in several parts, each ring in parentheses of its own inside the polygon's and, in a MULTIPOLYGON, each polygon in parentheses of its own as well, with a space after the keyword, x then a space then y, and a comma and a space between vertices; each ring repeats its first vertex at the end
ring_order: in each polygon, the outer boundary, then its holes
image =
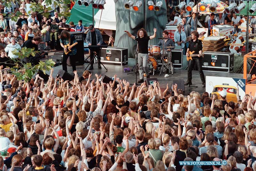
POLYGON ((72 70, 76 71, 76 46, 73 46, 72 48, 70 47, 73 43, 76 43, 76 39, 74 35, 70 35, 70 33, 68 33, 68 31, 63 30, 60 33, 60 46, 64 49, 63 52, 63 58, 62 58, 62 70, 68 72, 67 70, 67 60, 68 57, 71 60, 71 64, 72 64, 72 70), (64 45, 69 44, 70 46, 67 48, 65 48, 64 45), (65 52, 67 52, 69 49, 71 49, 71 52, 69 52, 67 55, 65 54, 65 52))

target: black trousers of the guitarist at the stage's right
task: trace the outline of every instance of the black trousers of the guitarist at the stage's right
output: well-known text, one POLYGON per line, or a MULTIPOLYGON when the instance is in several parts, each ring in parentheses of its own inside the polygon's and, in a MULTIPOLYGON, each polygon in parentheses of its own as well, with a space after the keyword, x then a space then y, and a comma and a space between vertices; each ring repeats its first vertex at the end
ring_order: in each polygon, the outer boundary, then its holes
POLYGON ((202 58, 201 57, 193 57, 193 60, 188 61, 188 82, 192 81, 192 70, 195 66, 195 63, 197 65, 198 72, 200 74, 200 78, 202 83, 205 83, 205 78, 204 78, 204 72, 202 68, 202 58))

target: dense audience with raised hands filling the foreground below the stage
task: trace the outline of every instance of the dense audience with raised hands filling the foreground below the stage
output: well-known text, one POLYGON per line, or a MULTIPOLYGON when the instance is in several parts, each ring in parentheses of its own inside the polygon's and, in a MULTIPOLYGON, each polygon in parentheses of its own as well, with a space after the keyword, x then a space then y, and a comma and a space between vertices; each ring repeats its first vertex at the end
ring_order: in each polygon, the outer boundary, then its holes
POLYGON ((237 89, 227 102, 224 90, 184 96, 177 85, 52 73, 23 82, 0 70, 1 170, 256 171, 256 94, 240 100, 237 89))

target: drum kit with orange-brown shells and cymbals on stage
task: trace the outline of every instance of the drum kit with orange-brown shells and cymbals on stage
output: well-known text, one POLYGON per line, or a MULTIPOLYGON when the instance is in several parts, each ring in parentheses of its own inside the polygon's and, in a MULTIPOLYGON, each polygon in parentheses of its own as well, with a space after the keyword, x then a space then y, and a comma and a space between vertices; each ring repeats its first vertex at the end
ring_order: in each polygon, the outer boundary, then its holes
MULTIPOLYGON (((161 40, 169 39, 169 38, 158 38, 161 40)), ((165 43, 165 41, 163 41, 165 43)), ((163 44, 164 47, 164 44, 163 44)), ((175 46, 167 46, 166 48, 175 48, 175 46)), ((158 70, 158 61, 162 61, 162 67, 159 70, 159 75, 161 75, 162 72, 166 73, 169 71, 169 73, 173 74, 173 71, 175 72, 175 69, 172 65, 171 58, 168 59, 167 57, 168 51, 164 48, 161 49, 160 46, 150 46, 148 45, 148 70, 150 74, 155 75, 155 71, 158 70)))

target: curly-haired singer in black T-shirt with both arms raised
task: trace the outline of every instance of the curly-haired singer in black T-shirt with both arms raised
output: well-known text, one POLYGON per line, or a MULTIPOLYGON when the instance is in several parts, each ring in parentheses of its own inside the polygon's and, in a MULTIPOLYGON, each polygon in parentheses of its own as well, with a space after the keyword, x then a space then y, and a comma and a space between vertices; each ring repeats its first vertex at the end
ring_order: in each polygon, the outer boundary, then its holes
POLYGON ((143 83, 143 71, 146 73, 147 78, 149 78, 149 71, 148 71, 148 41, 154 39, 156 37, 156 28, 154 28, 154 35, 148 36, 148 33, 144 28, 141 28, 137 32, 137 37, 133 36, 128 31, 124 31, 127 33, 129 37, 138 41, 139 46, 139 53, 138 53, 138 63, 139 63, 139 73, 140 73, 140 80, 138 83, 143 83))

